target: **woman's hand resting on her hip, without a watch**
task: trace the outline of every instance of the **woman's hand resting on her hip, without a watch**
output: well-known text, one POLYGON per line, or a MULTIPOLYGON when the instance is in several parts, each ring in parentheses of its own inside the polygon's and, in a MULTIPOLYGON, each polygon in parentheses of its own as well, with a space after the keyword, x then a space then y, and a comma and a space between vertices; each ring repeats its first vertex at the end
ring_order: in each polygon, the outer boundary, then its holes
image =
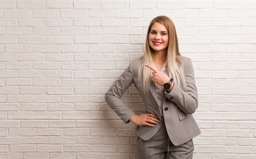
POLYGON ((157 116, 153 114, 141 114, 141 115, 133 115, 129 121, 131 121, 135 125, 146 125, 150 127, 154 127, 153 124, 158 124, 160 121, 157 116), (150 124, 152 123, 152 124, 150 124))

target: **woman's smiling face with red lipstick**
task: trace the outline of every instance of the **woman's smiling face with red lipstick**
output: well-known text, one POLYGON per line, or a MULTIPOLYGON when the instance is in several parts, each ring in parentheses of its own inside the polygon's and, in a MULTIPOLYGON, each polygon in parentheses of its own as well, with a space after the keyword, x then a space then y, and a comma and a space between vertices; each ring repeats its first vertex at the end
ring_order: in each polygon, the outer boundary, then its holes
POLYGON ((149 46, 155 51, 155 53, 165 51, 168 47, 168 40, 169 37, 166 27, 159 22, 155 22, 148 34, 149 46))

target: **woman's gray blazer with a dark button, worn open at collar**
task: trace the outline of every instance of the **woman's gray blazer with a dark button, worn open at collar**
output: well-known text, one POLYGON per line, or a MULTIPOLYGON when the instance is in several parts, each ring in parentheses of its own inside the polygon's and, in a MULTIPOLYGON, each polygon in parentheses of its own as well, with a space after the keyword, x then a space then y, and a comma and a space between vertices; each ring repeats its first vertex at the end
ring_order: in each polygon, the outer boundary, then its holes
MULTIPOLYGON (((143 91, 143 80, 142 77, 138 76, 140 61, 141 59, 132 60, 128 68, 116 79, 105 95, 107 104, 126 124, 135 113, 125 106, 120 98, 132 83, 139 91, 144 102, 144 113, 156 115, 161 120, 158 102, 156 102, 158 99, 154 82, 151 81, 149 89, 145 93, 143 91)), ((188 57, 181 56, 180 61, 184 71, 187 91, 184 92, 182 90, 182 84, 178 85, 174 83, 172 91, 170 93, 164 93, 163 102, 166 130, 175 146, 184 144, 200 134, 198 125, 192 115, 196 108, 198 108, 198 94, 195 86, 193 66, 188 57)), ((156 124, 155 127, 136 126, 137 135, 143 140, 150 139, 159 130, 161 122, 156 124)))

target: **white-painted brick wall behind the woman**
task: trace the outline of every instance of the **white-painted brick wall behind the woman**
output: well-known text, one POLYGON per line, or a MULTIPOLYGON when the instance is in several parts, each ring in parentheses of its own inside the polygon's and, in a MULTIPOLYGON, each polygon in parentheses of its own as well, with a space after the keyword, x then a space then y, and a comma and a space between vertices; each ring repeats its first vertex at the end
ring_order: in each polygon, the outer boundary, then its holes
MULTIPOLYGON (((157 15, 193 61, 194 158, 255 159, 255 0, 0 0, 0 159, 137 159, 104 94, 157 15)), ((122 100, 143 110, 134 86, 122 100)))

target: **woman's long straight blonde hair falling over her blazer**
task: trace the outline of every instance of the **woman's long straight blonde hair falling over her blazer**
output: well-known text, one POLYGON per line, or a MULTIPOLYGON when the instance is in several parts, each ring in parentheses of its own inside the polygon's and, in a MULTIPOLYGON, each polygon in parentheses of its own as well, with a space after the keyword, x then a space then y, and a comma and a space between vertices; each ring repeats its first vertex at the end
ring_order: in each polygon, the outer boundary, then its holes
POLYGON ((168 47, 166 48, 167 75, 173 78, 175 84, 182 83, 183 90, 186 91, 185 77, 182 69, 182 64, 179 60, 179 57, 181 55, 178 47, 178 38, 175 26, 170 18, 166 16, 158 16, 154 18, 148 26, 145 52, 144 55, 141 57, 141 64, 139 67, 139 75, 143 75, 144 92, 146 89, 148 89, 152 78, 152 71, 149 68, 145 67, 144 64, 150 64, 151 66, 154 65, 153 49, 149 46, 148 35, 150 33, 151 27, 153 26, 153 24, 155 24, 155 22, 163 24, 168 31, 169 42, 168 47))

